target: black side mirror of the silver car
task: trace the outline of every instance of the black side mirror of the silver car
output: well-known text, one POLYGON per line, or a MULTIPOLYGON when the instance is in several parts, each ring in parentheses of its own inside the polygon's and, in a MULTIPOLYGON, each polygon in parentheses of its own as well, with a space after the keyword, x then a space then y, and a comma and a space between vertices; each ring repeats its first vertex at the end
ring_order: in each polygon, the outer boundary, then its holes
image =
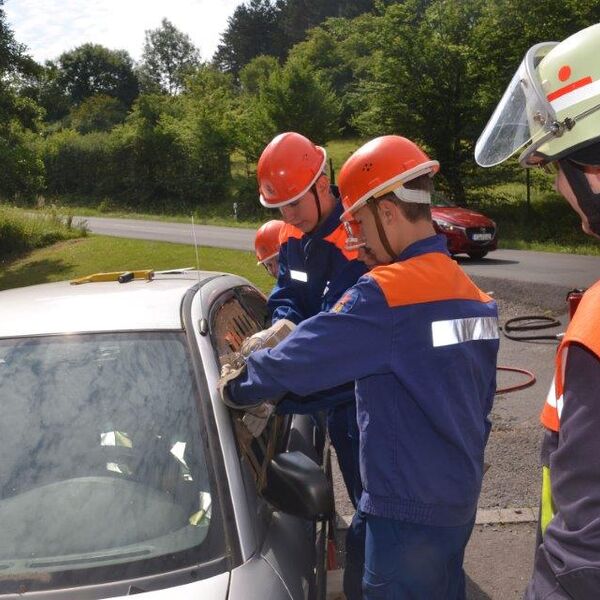
POLYGON ((323 470, 302 452, 282 452, 267 467, 264 498, 282 512, 314 520, 335 510, 333 488, 323 470))

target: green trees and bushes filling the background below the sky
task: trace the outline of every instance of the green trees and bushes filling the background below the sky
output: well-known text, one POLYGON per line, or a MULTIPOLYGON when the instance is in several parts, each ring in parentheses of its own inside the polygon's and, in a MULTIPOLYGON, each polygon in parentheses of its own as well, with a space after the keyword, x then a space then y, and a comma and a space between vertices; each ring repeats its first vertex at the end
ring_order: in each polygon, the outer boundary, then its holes
POLYGON ((600 20, 600 0, 248 0, 206 63, 165 19, 138 64, 84 44, 45 65, 3 4, 0 202, 162 214, 235 202, 260 219, 254 171, 276 133, 351 149, 397 133, 440 160, 438 189, 508 237, 560 239, 568 220, 544 176, 527 208, 523 172, 480 169, 473 147, 526 50, 600 20))

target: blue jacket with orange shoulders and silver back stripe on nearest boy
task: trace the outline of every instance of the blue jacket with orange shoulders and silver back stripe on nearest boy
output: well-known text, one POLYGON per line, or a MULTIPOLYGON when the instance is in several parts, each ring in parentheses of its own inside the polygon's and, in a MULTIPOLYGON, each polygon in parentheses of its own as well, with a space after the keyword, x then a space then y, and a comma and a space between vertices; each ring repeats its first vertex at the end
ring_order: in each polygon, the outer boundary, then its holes
POLYGON ((244 404, 356 380, 360 508, 414 523, 473 518, 496 390, 498 312, 443 236, 361 277, 335 306, 248 359, 244 404))

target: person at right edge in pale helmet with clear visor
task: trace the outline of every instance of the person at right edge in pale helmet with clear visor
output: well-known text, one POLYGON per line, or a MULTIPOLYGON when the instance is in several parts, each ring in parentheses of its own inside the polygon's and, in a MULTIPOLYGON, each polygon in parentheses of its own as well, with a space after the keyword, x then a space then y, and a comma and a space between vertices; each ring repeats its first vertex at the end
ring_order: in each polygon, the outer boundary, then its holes
MULTIPOLYGON (((600 237, 600 25, 525 55, 476 146, 477 162, 556 172, 555 187, 600 237)), ((600 282, 556 355, 541 421, 540 528, 527 599, 600 598, 600 282)))

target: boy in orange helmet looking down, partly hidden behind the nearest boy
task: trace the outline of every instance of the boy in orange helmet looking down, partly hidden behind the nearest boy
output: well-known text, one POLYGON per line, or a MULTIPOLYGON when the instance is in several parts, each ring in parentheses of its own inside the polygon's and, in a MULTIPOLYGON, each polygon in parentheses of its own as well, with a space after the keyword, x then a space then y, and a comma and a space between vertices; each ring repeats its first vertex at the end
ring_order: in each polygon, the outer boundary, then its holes
MULTIPOLYGON (((340 223, 342 205, 325 174, 323 148, 295 132, 282 133, 266 146, 257 166, 260 202, 278 208, 285 226, 279 234, 279 272, 268 300, 273 323, 298 324, 329 310, 366 272, 355 250, 346 248, 340 223)), ((352 504, 362 493, 353 377, 345 387, 302 404, 282 402, 279 412, 326 409, 327 430, 352 504)), ((344 581, 348 600, 360 600, 364 528, 357 518, 346 535, 347 560, 353 569, 344 581), (358 575, 356 575, 358 573, 358 575), (354 575, 354 577, 352 577, 354 575)))

